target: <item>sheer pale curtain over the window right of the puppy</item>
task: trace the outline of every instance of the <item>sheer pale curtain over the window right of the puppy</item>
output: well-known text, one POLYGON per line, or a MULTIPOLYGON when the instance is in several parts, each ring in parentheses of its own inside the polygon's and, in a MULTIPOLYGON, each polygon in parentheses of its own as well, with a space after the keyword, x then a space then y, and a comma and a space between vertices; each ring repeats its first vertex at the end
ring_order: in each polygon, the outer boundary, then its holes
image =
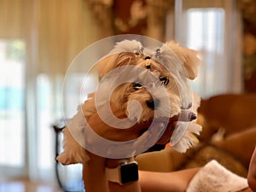
POLYGON ((241 16, 235 0, 176 1, 175 40, 199 51, 201 69, 192 87, 202 97, 243 90, 241 16))

